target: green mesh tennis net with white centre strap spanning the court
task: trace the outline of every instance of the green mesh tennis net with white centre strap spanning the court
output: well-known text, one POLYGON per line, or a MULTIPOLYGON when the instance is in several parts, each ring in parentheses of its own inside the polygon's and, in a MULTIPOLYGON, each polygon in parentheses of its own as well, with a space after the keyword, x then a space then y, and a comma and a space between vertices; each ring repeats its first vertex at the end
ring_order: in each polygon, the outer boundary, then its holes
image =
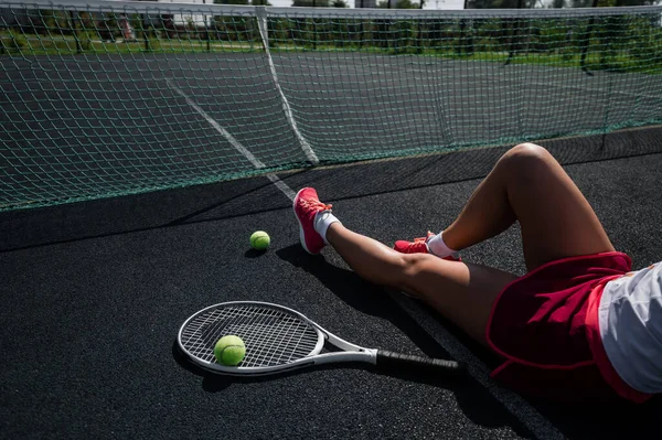
POLYGON ((662 120, 660 7, 0 6, 0 210, 662 120))

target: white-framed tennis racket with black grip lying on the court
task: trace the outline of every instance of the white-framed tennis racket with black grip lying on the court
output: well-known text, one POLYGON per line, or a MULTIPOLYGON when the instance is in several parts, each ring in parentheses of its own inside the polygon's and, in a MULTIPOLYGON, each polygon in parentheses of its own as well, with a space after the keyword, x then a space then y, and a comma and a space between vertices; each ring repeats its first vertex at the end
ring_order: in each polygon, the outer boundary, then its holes
POLYGON ((463 372, 463 366, 455 361, 354 345, 303 314, 268 302, 235 301, 207 307, 182 324, 178 344, 194 364, 228 375, 260 376, 342 362, 366 362, 396 371, 425 369, 441 375, 463 372), (218 364, 214 356, 216 341, 228 334, 239 336, 246 345, 246 355, 237 366, 218 364), (335 351, 322 353, 327 343, 335 351))

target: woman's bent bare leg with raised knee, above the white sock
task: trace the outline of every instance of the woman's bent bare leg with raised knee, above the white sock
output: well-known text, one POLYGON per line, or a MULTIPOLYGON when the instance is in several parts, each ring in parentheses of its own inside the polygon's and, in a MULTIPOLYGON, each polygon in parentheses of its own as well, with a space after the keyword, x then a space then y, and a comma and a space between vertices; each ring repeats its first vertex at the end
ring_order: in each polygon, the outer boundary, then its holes
POLYGON ((558 162, 542 147, 512 148, 444 230, 460 250, 520 222, 524 259, 532 270, 547 261, 613 250, 602 225, 558 162))

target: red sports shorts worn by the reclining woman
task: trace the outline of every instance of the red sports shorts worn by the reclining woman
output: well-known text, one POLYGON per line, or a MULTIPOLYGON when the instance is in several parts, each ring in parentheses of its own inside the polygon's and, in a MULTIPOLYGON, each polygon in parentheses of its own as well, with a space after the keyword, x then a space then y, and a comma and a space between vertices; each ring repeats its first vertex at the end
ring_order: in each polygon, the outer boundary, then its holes
POLYGON ((631 268, 626 254, 602 253, 551 261, 508 285, 485 329, 488 343, 505 358, 492 377, 556 401, 650 398, 620 379, 598 328, 605 285, 631 268))

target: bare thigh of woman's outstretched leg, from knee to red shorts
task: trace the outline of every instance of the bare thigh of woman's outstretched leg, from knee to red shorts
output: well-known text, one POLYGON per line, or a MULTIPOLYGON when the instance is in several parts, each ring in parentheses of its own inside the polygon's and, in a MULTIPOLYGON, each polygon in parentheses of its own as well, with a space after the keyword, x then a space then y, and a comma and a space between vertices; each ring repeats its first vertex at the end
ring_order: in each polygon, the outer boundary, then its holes
POLYGON ((517 277, 487 266, 448 261, 426 254, 407 258, 409 264, 402 288, 487 345, 485 328, 494 300, 517 277))

